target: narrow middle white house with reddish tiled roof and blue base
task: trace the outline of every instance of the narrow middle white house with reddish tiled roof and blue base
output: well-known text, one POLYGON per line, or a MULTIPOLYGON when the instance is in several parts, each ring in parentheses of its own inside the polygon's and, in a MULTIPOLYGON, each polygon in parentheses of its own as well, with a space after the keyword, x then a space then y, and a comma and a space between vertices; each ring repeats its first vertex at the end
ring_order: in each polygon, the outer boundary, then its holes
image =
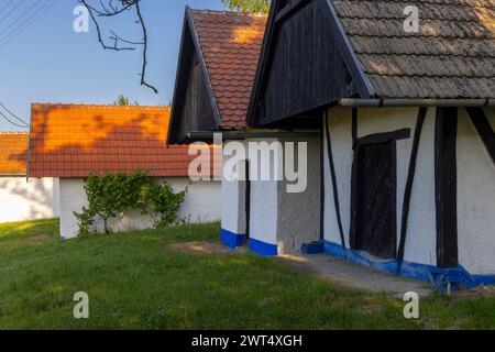
MULTIPOLYGON (((231 158, 226 151, 235 146, 248 150, 250 143, 258 141, 297 142, 311 135, 308 148, 319 152, 318 122, 312 123, 312 131, 297 133, 246 123, 265 25, 265 15, 186 9, 170 144, 211 140, 213 132, 221 132, 223 165, 231 158)), ((277 172, 268 163, 273 157, 270 148, 262 145, 256 151, 258 157, 240 161, 238 173, 245 173, 245 177, 229 179, 223 175, 220 237, 232 249, 248 241, 251 250, 262 255, 299 252, 304 243, 320 235, 320 158, 308 161, 310 182, 294 202, 295 195, 279 191, 286 183, 248 175, 262 169, 277 172)))

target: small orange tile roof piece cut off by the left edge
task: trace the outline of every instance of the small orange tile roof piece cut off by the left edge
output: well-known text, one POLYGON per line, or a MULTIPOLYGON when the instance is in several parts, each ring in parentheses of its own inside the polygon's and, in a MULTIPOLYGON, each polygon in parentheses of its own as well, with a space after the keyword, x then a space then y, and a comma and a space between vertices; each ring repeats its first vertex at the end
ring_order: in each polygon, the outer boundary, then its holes
POLYGON ((0 176, 24 176, 28 162, 29 133, 0 132, 0 176))

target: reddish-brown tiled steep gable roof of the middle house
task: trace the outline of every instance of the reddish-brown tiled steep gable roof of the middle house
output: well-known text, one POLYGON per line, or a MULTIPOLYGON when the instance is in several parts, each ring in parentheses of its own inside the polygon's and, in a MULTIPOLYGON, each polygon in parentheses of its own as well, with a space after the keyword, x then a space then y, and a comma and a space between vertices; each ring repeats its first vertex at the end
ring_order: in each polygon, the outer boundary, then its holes
POLYGON ((201 84, 207 89, 215 114, 215 129, 246 127, 245 116, 265 24, 265 15, 186 8, 170 130, 176 129, 175 123, 182 122, 175 120, 183 118, 185 86, 190 75, 188 65, 195 54, 204 76, 201 84), (186 47, 188 44, 193 48, 186 47))

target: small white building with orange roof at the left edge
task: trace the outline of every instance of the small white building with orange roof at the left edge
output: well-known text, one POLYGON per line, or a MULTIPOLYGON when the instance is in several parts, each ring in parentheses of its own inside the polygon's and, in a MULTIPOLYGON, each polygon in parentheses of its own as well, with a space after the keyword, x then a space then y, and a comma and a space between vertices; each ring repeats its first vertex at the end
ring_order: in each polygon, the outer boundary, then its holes
POLYGON ((0 223, 57 218, 58 179, 26 178, 29 133, 0 132, 0 223))

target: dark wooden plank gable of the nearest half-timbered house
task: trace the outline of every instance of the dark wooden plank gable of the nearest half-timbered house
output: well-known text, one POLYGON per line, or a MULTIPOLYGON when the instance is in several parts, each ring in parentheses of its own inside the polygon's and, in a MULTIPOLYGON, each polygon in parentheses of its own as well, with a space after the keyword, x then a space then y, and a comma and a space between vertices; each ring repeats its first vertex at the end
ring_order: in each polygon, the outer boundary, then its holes
POLYGON ((274 0, 249 124, 289 123, 343 97, 370 98, 372 90, 327 0, 274 0))

